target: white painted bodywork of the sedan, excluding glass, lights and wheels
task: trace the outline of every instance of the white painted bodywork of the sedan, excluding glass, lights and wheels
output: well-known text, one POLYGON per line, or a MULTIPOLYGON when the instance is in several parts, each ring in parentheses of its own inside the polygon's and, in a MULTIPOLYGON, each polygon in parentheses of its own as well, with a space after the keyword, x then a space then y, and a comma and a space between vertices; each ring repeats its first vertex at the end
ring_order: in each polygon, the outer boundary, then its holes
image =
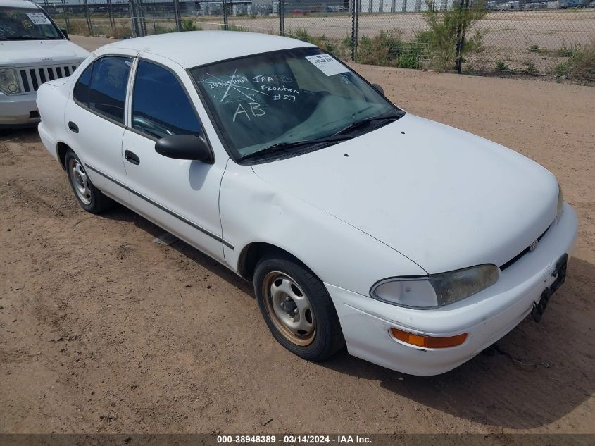
MULTIPOLYGON (((568 204, 557 212, 556 179, 537 163, 411 113, 332 147, 270 163, 236 163, 186 69, 308 46, 252 33, 177 33, 116 42, 82 63, 77 73, 106 54, 139 54, 168 66, 194 102, 215 155, 212 165, 156 154, 154 140, 130 130, 130 113, 120 126, 78 106, 72 99, 76 75, 39 89, 39 134, 58 161, 58 144, 72 147, 93 166, 87 173, 100 190, 240 275, 252 243, 296 256, 325 283, 351 354, 416 375, 449 371, 530 313, 555 280, 556 261, 572 252, 575 212, 568 204), (68 130, 70 120, 79 134, 68 130), (125 162, 125 150, 142 163, 125 162), (501 271, 494 285, 454 304, 419 310, 370 297, 384 278, 501 266, 541 234, 534 250, 501 271), (457 347, 420 348, 396 340, 390 328, 468 338, 457 347)), ((128 108, 131 85, 132 76, 128 108)))

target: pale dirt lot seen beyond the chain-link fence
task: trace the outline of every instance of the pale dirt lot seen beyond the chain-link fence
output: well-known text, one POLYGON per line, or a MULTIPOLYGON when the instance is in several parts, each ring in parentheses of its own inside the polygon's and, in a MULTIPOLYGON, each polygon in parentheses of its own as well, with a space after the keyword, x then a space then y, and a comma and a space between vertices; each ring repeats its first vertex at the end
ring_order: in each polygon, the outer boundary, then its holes
MULTIPOLYGON (((172 16, 156 16, 146 18, 149 34, 160 28, 175 28, 172 16)), ((222 16, 184 15, 184 20, 192 20, 195 25, 205 30, 218 30, 223 24, 222 16)), ((57 23, 65 26, 63 16, 54 17, 57 23)), ((337 14, 292 14, 285 16, 285 31, 297 34, 306 31, 311 36, 322 36, 331 39, 344 39, 351 36, 351 15, 337 14)), ((483 41, 490 51, 527 51, 532 44, 549 50, 563 45, 589 44, 595 37, 595 10, 552 10, 552 11, 500 11, 490 12, 475 25, 484 33, 483 41)), ((92 16, 92 23, 97 35, 109 35, 111 25, 106 16, 92 16)), ((258 32, 278 32, 277 16, 230 16, 230 25, 246 27, 258 32)), ((130 35, 130 18, 115 18, 118 33, 130 35)), ((87 23, 83 18, 70 18, 73 33, 87 31, 87 23)), ((475 29, 475 28, 474 28, 475 29)), ((360 13, 358 16, 359 37, 374 37, 381 31, 399 31, 406 40, 427 30, 427 23, 421 13, 360 13)), ((82 33, 82 32, 81 32, 82 33)))

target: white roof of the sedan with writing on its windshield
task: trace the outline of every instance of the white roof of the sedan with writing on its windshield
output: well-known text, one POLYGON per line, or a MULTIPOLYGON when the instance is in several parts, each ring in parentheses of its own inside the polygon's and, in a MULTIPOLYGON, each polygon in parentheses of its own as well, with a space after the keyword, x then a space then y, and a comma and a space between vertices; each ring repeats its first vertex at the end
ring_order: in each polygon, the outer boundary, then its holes
POLYGON ((101 53, 127 49, 169 58, 193 68, 230 58, 280 49, 315 47, 308 42, 257 32, 187 31, 124 39, 101 47, 101 53))

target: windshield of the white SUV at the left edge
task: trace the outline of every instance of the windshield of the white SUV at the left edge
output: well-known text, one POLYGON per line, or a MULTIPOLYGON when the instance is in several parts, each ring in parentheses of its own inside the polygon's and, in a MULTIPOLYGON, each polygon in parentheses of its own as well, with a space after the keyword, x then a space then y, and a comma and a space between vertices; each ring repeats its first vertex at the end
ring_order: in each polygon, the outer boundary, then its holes
POLYGON ((42 9, 0 6, 0 40, 63 39, 42 9))

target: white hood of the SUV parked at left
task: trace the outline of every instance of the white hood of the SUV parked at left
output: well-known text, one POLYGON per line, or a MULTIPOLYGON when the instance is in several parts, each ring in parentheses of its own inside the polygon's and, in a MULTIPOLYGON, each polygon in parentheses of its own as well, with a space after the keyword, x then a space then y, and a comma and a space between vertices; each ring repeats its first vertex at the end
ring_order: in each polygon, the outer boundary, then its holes
POLYGON ((8 66, 54 65, 81 61, 89 56, 69 40, 13 40, 0 42, 0 64, 8 66))

